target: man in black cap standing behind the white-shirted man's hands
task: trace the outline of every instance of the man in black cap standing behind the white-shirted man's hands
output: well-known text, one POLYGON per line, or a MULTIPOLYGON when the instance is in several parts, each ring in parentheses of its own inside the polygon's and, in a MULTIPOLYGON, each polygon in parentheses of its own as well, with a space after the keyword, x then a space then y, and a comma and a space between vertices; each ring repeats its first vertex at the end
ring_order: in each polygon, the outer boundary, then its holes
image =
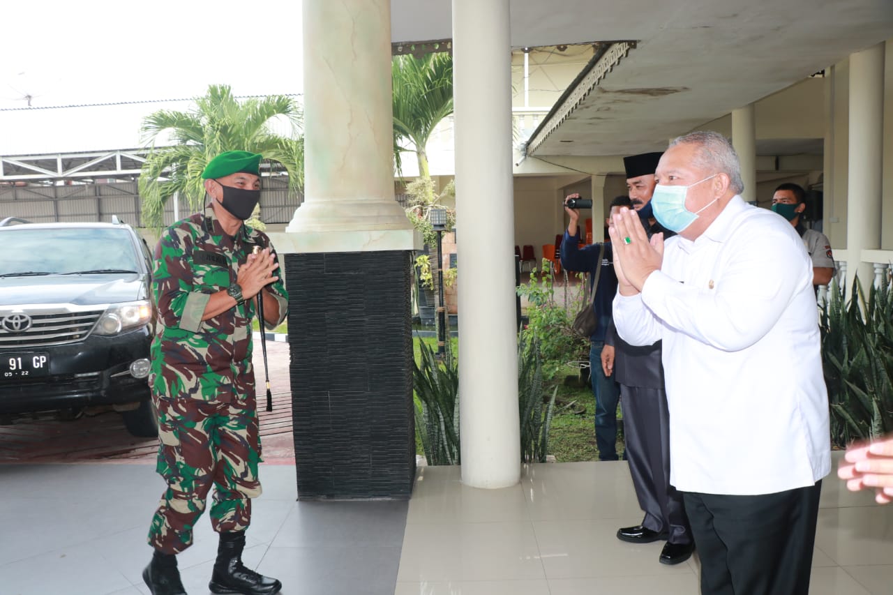
MULTIPOLYGON (((623 165, 630 200, 648 237, 660 232, 665 239, 673 235, 672 231, 655 221, 650 204, 661 155, 624 157, 623 165)), ((613 346, 614 360, 605 361, 605 367, 613 365, 614 380, 620 384, 626 457, 638 506, 645 513, 641 524, 619 529, 617 539, 631 543, 666 540, 661 564, 680 564, 691 557, 694 541, 682 496, 670 485, 670 415, 663 386, 661 342, 632 346, 616 335, 612 321, 605 345, 613 346)), ((607 355, 603 354, 603 360, 607 355)))

